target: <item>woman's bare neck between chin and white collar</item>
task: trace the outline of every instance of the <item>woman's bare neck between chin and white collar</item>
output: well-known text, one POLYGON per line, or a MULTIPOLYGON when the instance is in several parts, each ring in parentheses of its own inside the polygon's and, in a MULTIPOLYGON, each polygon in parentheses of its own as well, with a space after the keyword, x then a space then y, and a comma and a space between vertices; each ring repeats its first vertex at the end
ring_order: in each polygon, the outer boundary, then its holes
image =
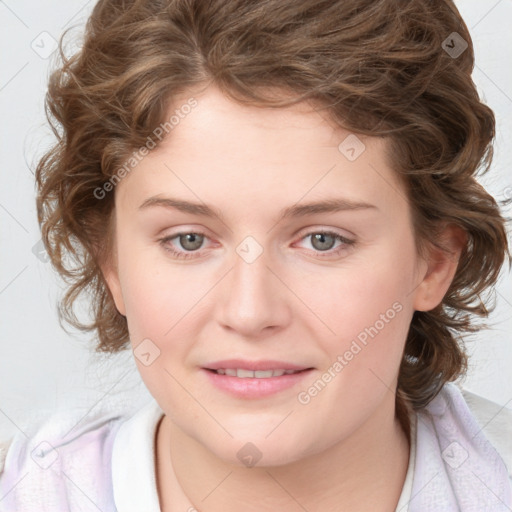
POLYGON ((409 461, 408 436, 392 405, 329 449, 274 467, 223 461, 165 416, 156 437, 161 510, 392 512, 409 461))

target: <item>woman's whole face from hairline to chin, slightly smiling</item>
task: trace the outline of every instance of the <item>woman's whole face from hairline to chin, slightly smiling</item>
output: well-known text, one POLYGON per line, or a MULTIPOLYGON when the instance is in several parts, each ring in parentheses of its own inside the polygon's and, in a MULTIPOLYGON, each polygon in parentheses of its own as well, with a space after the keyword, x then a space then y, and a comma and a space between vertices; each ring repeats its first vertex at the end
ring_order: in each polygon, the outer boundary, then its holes
POLYGON ((393 407, 427 264, 384 140, 194 97, 117 185, 105 275, 177 428, 236 464, 248 442, 300 460, 393 407))

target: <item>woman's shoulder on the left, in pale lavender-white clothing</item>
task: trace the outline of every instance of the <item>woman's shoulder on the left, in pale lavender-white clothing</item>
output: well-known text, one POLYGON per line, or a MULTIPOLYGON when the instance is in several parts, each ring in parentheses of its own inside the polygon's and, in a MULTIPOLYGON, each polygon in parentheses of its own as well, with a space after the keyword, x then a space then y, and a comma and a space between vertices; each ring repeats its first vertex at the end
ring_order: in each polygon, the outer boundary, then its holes
POLYGON ((61 411, 2 441, 0 508, 109 510, 112 444, 125 417, 61 411))

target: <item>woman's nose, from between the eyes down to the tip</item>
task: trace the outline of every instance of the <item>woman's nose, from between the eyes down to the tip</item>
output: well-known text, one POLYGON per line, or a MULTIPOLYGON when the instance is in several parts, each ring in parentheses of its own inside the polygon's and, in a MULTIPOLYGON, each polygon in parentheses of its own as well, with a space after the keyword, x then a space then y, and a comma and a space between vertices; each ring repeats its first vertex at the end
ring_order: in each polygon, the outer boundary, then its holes
POLYGON ((233 267, 223 290, 221 320, 225 326, 257 334, 286 321, 283 285, 269 269, 268 251, 251 236, 237 247, 233 267))

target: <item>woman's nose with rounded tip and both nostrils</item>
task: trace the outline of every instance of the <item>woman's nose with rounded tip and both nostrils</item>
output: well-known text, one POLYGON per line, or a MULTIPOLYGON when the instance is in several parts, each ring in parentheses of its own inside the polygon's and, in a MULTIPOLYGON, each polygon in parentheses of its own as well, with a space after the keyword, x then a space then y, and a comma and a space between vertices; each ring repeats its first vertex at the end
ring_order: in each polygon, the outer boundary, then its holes
POLYGON ((243 251, 234 255, 233 267, 219 290, 219 322, 247 338, 275 334, 285 327, 291 318, 293 295, 279 275, 279 266, 269 261, 266 251, 252 260, 254 250, 250 248, 249 257, 243 251))

